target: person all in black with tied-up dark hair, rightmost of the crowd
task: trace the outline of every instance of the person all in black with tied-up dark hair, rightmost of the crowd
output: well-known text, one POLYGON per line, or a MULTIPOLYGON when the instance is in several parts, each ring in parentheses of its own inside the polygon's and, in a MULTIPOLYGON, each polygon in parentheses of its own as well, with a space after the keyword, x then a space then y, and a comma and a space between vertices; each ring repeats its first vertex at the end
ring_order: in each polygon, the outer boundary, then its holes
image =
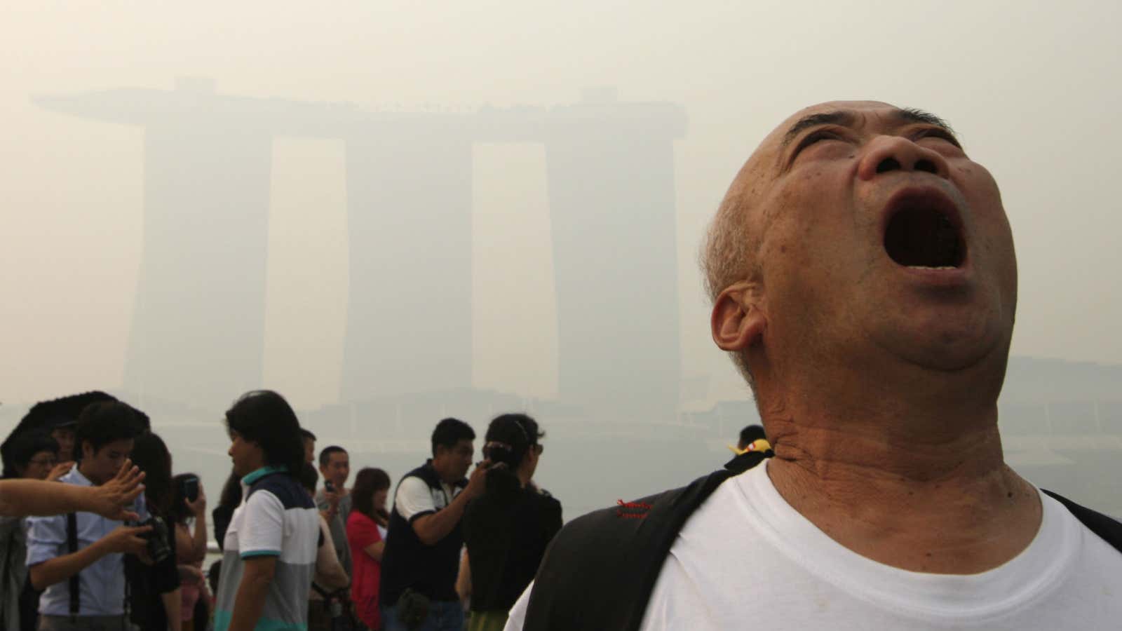
POLYGON ((469 631, 502 631, 545 547, 561 530, 561 502, 531 482, 544 436, 526 414, 503 414, 487 428, 484 457, 491 467, 486 491, 463 513, 471 577, 469 631))

